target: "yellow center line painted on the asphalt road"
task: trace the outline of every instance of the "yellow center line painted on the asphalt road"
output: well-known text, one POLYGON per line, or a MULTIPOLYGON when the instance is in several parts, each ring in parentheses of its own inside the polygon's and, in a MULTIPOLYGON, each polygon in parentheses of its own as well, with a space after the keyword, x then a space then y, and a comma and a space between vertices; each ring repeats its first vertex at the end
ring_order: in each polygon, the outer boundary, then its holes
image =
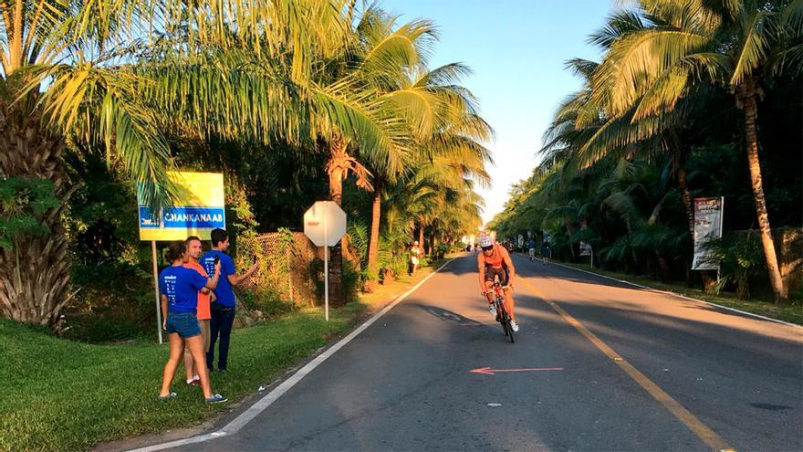
POLYGON ((633 367, 631 363, 628 363, 620 356, 619 353, 611 349, 607 343, 602 342, 602 340, 597 337, 596 334, 589 331, 588 328, 583 326, 582 323, 577 321, 577 319, 572 317, 566 310, 563 310, 563 308, 558 306, 558 304, 556 304, 554 301, 547 299, 543 293, 536 289, 532 284, 527 282, 527 279, 524 279, 520 276, 519 279, 521 279, 525 286, 532 290, 538 298, 546 301, 553 310, 558 312, 558 314, 563 317, 563 319, 567 321, 569 325, 573 326, 575 330, 579 331, 580 334, 585 336, 586 339, 600 349, 600 352, 605 353, 605 356, 613 360, 613 363, 619 365, 622 371, 627 373, 636 383, 638 383, 642 388, 644 388, 644 390, 652 395, 652 398, 657 400, 661 405, 668 409, 670 413, 677 417, 679 421, 683 422, 683 424, 687 426, 689 430, 694 432, 694 435, 702 439, 708 447, 720 452, 735 452, 734 449, 730 447, 727 442, 725 442, 725 439, 717 435, 714 430, 703 424, 703 422, 698 419, 697 416, 693 415, 689 410, 675 400, 672 395, 667 394, 666 391, 662 390, 658 384, 652 383, 652 380, 633 367))

